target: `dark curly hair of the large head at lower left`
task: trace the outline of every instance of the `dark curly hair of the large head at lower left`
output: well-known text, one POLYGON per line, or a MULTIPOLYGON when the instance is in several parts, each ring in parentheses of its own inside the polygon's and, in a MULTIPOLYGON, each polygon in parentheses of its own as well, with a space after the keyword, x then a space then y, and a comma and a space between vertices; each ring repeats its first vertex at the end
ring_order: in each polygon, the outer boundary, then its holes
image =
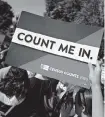
POLYGON ((18 100, 25 98, 29 89, 27 71, 11 67, 6 77, 0 82, 0 91, 8 97, 16 96, 18 100))

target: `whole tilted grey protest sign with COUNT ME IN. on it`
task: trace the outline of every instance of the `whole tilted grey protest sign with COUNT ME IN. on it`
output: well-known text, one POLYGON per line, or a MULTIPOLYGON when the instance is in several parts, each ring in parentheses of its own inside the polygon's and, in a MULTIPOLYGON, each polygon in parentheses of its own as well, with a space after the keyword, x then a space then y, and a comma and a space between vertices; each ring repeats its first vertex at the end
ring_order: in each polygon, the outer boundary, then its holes
POLYGON ((22 12, 6 63, 33 73, 90 87, 88 63, 96 64, 103 28, 22 12))

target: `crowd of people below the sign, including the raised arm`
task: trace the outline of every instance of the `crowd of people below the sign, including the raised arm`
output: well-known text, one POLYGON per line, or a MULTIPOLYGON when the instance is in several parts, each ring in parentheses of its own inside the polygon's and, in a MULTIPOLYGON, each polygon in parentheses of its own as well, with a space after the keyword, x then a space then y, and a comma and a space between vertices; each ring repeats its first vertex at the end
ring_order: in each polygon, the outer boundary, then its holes
POLYGON ((3 64, 0 117, 104 117, 102 63, 89 64, 90 89, 3 64))

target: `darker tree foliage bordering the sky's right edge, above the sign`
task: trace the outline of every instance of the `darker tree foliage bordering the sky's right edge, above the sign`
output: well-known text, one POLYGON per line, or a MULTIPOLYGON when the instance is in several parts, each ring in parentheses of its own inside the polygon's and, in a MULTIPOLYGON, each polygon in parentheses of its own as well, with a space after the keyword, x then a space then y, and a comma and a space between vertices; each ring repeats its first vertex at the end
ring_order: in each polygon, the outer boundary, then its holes
POLYGON ((80 11, 79 0, 46 0, 46 16, 63 21, 74 21, 80 11))

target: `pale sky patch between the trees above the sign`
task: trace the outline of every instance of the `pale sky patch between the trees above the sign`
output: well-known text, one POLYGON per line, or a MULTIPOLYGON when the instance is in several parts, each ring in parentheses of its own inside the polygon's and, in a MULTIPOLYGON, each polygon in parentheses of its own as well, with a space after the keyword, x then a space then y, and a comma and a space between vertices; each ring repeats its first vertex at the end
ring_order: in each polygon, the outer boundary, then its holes
POLYGON ((45 0, 4 0, 13 8, 16 14, 22 10, 43 16, 45 12, 45 0))

